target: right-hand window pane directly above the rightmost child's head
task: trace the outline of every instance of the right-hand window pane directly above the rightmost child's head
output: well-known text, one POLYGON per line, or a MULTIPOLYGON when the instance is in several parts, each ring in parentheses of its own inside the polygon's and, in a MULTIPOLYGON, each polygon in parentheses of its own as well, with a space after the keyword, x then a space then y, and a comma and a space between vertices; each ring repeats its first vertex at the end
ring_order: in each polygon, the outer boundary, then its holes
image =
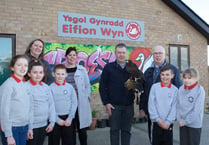
POLYGON ((181 47, 181 70, 184 71, 188 66, 188 48, 181 47))

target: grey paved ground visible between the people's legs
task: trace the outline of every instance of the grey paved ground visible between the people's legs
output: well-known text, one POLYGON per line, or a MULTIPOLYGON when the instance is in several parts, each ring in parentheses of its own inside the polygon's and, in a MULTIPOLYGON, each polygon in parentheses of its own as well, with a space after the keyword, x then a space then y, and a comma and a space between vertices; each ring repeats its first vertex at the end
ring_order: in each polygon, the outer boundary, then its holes
MULTIPOLYGON (((200 145, 209 144, 208 133, 209 133, 209 114, 205 114, 200 145)), ((173 142, 174 142, 173 145, 179 145, 179 130, 177 124, 174 124, 173 142)), ((47 139, 44 145, 47 145, 47 139)), ((77 145, 79 145, 79 143, 77 143, 77 145)), ((88 145, 110 145, 109 127, 88 130, 88 145)), ((150 145, 147 136, 147 123, 133 124, 131 145, 150 145)))

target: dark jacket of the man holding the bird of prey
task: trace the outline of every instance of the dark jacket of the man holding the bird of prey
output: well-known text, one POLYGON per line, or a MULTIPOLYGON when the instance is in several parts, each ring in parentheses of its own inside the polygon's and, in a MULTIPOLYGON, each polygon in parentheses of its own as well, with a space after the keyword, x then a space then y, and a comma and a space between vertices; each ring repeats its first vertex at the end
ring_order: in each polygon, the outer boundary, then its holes
POLYGON ((124 84, 130 76, 116 61, 105 65, 99 83, 99 93, 104 105, 133 104, 134 92, 128 91, 124 84))

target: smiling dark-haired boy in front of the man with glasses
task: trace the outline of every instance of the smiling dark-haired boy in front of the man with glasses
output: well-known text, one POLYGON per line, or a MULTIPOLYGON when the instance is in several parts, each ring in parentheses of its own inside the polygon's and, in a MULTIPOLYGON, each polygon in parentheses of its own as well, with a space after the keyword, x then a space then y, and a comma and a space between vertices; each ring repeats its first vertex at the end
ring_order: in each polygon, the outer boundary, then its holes
POLYGON ((148 111, 152 121, 152 145, 173 145, 173 122, 176 119, 176 97, 178 89, 171 84, 174 77, 172 67, 160 69, 161 82, 150 90, 148 111))

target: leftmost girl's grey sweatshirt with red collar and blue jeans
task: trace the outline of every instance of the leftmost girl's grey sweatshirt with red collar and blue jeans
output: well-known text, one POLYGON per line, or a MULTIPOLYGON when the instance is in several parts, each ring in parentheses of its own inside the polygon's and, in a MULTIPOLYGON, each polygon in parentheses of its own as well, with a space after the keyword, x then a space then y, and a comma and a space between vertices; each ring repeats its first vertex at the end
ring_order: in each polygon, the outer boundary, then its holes
POLYGON ((28 129, 32 129, 33 110, 30 89, 12 74, 1 86, 1 127, 3 145, 13 136, 16 145, 25 145, 28 129))

